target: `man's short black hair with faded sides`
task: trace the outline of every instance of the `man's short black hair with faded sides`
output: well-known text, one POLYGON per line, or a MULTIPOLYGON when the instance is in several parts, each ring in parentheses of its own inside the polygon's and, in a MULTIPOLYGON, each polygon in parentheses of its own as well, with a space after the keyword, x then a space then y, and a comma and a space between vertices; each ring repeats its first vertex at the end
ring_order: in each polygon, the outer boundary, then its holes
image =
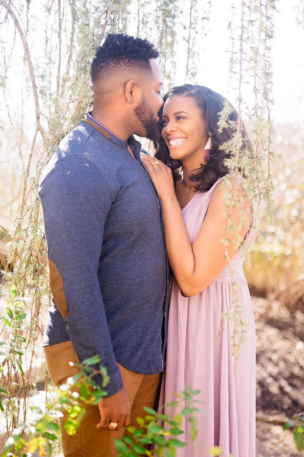
POLYGON ((153 43, 123 33, 111 33, 92 62, 92 81, 108 79, 119 70, 137 67, 152 74, 150 58, 160 55, 153 43))

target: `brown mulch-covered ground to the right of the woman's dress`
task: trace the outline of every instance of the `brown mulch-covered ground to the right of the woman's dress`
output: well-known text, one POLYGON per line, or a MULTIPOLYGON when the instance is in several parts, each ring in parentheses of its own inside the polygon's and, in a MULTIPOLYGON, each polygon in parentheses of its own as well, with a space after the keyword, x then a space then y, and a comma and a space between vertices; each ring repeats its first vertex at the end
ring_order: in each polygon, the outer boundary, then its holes
MULTIPOLYGON (((257 417, 293 419, 304 411, 304 307, 289 312, 279 303, 269 307, 266 300, 255 297, 252 304, 257 333, 257 417)), ((293 436, 282 425, 257 420, 256 430, 256 457, 299 456, 293 436)))

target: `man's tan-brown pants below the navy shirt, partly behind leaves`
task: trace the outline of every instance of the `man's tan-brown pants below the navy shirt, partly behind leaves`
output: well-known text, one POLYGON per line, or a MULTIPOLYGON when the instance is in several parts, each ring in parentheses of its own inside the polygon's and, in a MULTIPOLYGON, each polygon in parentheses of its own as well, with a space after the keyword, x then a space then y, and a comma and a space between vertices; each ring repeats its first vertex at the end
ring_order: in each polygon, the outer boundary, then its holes
MULTIPOLYGON (((68 377, 77 374, 77 367, 69 362, 78 358, 71 341, 64 341, 44 347, 47 371, 54 384, 64 384, 68 377)), ((160 385, 161 373, 144 375, 135 373, 117 364, 131 404, 131 421, 129 426, 139 427, 136 418, 146 415, 144 406, 155 408, 160 385)), ((98 405, 86 405, 86 412, 75 435, 70 436, 64 429, 67 414, 60 418, 62 449, 64 457, 115 457, 118 454, 114 439, 122 439, 125 428, 119 431, 100 430, 98 405)))

